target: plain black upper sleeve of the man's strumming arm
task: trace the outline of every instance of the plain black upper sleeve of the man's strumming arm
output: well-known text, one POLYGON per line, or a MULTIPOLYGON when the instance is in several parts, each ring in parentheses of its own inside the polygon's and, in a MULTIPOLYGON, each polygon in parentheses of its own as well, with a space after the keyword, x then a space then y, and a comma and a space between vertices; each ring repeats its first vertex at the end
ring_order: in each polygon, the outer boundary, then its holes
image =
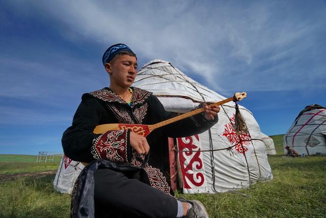
POLYGON ((94 134, 93 130, 104 113, 105 109, 98 100, 86 94, 83 95, 82 102, 73 117, 72 126, 62 136, 65 155, 75 161, 91 162, 94 160, 91 146, 93 140, 100 134, 94 134))

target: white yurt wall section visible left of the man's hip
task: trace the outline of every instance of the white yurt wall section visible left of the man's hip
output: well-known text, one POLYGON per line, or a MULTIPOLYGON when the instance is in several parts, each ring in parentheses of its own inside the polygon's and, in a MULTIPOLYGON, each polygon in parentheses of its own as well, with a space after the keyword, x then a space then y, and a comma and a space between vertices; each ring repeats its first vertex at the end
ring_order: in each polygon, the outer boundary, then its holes
POLYGON ((53 186, 61 193, 71 193, 73 185, 83 168, 84 165, 81 162, 73 161, 63 155, 53 186))

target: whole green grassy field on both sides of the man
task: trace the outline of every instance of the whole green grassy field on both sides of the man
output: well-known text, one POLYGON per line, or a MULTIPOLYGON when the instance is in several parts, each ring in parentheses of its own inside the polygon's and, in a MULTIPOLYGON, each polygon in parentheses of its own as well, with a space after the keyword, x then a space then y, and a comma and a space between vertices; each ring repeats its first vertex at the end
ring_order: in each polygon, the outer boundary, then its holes
MULTIPOLYGON (((235 192, 177 196, 202 201, 211 217, 326 217, 326 157, 283 157, 282 137, 273 136, 278 155, 268 156, 273 180, 235 192)), ((1 182, 0 217, 69 217, 70 196, 53 190, 53 178, 1 182)))

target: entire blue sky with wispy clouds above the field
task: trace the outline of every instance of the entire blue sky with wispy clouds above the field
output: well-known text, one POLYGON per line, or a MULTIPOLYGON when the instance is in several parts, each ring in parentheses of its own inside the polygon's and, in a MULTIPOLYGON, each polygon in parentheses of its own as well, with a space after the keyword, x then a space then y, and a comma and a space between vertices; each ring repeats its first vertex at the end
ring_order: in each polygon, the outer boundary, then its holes
POLYGON ((326 106, 326 1, 1 1, 0 154, 61 152, 83 93, 108 86, 105 49, 170 61, 283 134, 326 106))

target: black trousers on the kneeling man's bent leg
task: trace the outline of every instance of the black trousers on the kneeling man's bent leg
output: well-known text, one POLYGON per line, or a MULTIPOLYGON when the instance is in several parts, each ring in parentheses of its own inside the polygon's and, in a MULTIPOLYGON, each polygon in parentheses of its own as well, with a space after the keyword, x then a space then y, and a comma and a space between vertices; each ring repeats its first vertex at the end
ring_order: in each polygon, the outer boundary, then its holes
POLYGON ((99 168, 94 173, 95 217, 177 216, 174 197, 139 180, 137 174, 99 168))

